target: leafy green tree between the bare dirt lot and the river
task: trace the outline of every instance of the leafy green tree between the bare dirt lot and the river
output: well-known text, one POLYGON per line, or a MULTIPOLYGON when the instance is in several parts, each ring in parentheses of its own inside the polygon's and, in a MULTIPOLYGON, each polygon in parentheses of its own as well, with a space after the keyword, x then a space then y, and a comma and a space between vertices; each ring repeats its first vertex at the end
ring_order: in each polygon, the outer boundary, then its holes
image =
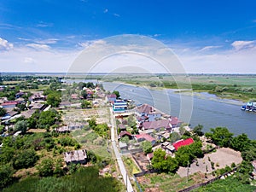
POLYGON ((231 133, 226 127, 211 128, 211 132, 207 132, 206 137, 210 137, 212 142, 220 147, 230 147, 230 141, 232 140, 233 133, 231 133))

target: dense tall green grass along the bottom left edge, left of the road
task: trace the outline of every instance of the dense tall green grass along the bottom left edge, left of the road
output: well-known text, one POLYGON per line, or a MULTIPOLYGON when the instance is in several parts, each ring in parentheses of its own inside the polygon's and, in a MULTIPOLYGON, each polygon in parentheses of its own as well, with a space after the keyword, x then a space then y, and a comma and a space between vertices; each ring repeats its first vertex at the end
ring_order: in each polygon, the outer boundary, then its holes
POLYGON ((77 172, 64 177, 27 177, 15 183, 3 192, 27 191, 27 192, 118 192, 124 191, 123 186, 113 177, 99 176, 99 170, 94 167, 81 167, 77 172))

